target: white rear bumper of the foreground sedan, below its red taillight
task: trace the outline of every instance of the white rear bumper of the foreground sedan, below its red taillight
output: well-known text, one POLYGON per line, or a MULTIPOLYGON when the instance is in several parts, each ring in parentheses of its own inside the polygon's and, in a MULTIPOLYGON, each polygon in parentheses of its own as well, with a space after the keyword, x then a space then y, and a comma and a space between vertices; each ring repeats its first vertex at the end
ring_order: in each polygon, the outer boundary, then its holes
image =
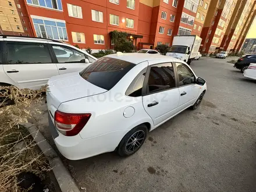
MULTIPOLYGON (((115 148, 118 147, 123 136, 129 131, 113 131, 87 139, 81 138, 80 134, 70 137, 59 133, 59 131, 56 130, 54 123, 52 123, 51 118, 49 119, 49 129, 51 130, 51 133, 52 130, 58 132, 58 136, 54 138, 54 143, 59 152, 61 152, 65 158, 70 160, 79 160, 105 152, 115 151, 115 148)), ((84 129, 86 129, 86 127, 84 129)))

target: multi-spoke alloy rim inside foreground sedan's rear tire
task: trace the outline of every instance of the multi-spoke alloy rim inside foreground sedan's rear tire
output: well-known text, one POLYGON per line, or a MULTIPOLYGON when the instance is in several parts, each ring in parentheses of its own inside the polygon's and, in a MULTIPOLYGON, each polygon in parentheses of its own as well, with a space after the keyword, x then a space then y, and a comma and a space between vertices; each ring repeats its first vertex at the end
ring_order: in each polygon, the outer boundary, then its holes
POLYGON ((144 141, 145 133, 142 130, 133 133, 126 143, 126 152, 133 152, 139 148, 144 141))

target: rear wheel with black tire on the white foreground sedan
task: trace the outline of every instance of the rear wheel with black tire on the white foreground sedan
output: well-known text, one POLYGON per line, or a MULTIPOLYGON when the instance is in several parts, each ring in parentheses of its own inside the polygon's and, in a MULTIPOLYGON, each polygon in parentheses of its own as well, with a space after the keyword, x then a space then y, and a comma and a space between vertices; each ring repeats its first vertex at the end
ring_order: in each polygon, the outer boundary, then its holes
POLYGON ((116 149, 118 155, 128 157, 138 151, 147 138, 147 133, 147 126, 144 124, 131 129, 119 143, 116 149))

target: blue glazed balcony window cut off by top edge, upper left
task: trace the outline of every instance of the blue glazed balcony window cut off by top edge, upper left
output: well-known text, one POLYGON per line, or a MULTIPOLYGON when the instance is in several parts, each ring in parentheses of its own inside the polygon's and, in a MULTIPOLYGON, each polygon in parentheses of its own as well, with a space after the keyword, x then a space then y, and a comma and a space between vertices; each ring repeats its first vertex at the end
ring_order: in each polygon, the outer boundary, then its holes
POLYGON ((61 0, 27 0, 27 4, 62 10, 61 0))

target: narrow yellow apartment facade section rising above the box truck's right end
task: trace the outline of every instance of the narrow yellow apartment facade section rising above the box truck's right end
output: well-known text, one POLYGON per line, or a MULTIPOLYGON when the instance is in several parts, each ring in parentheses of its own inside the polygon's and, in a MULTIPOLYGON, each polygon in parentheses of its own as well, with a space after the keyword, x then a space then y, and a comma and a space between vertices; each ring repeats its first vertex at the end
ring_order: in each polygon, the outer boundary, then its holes
POLYGON ((195 16, 193 31, 191 34, 201 36, 202 27, 204 26, 210 3, 211 0, 200 0, 197 9, 197 15, 195 16))

